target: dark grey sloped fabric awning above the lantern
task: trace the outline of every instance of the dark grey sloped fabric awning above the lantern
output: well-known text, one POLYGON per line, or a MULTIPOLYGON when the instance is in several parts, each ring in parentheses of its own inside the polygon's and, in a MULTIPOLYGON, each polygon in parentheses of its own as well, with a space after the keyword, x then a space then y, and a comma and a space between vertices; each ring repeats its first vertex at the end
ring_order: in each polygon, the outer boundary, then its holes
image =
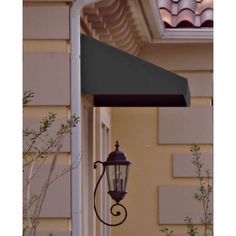
POLYGON ((81 35, 82 94, 97 107, 190 106, 187 79, 81 35))

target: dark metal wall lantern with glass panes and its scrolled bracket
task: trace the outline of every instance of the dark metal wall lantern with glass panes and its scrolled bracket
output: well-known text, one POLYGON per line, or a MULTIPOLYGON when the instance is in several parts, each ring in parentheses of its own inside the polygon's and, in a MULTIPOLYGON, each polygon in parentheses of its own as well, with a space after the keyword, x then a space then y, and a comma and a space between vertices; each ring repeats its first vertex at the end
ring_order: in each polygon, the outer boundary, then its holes
POLYGON ((120 204, 120 201, 124 198, 125 194, 127 193, 127 181, 128 181, 128 173, 129 173, 129 165, 131 164, 130 161, 127 160, 125 154, 119 150, 119 143, 116 142, 116 150, 111 152, 106 161, 96 161, 94 163, 94 168, 97 168, 97 164, 102 164, 103 171, 102 174, 97 182, 97 185, 94 190, 94 210, 98 217, 98 219, 105 225, 108 226, 117 226, 122 224, 127 218, 127 210, 126 208, 120 204), (111 206, 110 212, 113 216, 121 215, 120 211, 113 212, 115 206, 119 206, 124 210, 124 217, 123 219, 116 224, 109 224, 102 220, 97 212, 96 204, 95 204, 95 197, 98 185, 106 172, 107 175, 107 184, 108 184, 108 193, 110 194, 111 198, 116 202, 111 206))

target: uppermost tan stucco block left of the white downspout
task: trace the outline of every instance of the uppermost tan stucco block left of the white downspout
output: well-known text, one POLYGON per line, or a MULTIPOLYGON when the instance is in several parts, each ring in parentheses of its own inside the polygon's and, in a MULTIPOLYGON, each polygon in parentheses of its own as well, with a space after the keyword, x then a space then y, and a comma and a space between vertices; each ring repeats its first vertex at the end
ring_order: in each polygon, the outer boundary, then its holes
POLYGON ((69 6, 23 8, 24 39, 69 39, 69 6))

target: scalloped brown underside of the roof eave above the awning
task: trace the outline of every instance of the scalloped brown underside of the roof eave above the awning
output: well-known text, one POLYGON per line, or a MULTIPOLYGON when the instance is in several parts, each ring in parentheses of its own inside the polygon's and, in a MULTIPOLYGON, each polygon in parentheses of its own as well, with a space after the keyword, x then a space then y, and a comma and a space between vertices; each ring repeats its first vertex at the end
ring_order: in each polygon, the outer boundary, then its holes
POLYGON ((89 35, 95 31, 100 41, 137 54, 140 35, 130 7, 125 0, 102 1, 84 10, 85 22, 82 23, 89 35))

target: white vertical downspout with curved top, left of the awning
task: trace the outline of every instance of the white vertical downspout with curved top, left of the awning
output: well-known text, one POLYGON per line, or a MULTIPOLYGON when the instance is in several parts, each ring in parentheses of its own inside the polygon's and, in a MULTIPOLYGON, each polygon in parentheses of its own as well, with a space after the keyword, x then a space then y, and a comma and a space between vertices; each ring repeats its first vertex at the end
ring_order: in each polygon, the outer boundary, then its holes
MULTIPOLYGON (((80 70, 80 11, 98 0, 75 0, 70 9, 71 40, 71 112, 81 117, 81 70, 80 70)), ((80 163, 81 159, 81 122, 71 134, 72 163, 80 163)), ((82 235, 82 176, 81 165, 72 170, 71 176, 71 213, 72 236, 82 235)))

